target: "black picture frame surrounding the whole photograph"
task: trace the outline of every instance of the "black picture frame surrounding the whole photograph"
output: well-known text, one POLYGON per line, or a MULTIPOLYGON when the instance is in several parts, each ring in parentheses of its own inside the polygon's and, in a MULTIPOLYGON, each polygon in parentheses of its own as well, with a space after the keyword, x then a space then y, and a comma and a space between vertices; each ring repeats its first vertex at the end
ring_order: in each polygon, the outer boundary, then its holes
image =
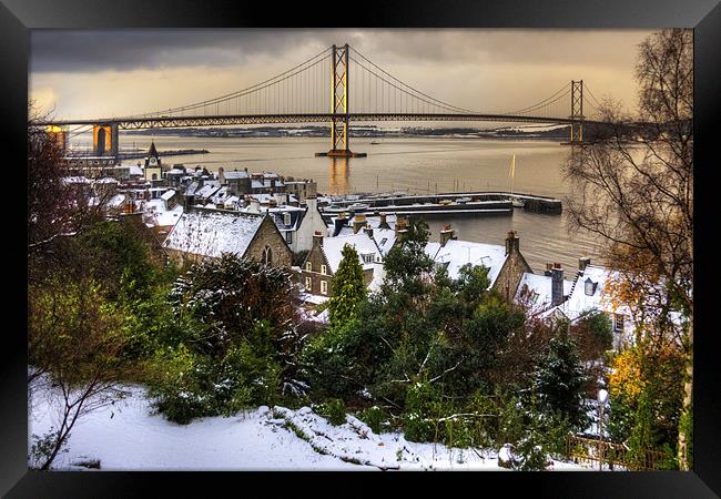
MULTIPOLYGON (((309 491, 321 495, 375 495, 392 485, 427 489, 429 482, 441 487, 433 493, 500 493, 526 489, 531 497, 578 498, 701 498, 721 495, 721 403, 719 364, 715 356, 718 328, 712 308, 717 283, 713 246, 713 167, 718 112, 721 92, 721 6, 718 0, 556 0, 473 2, 396 1, 334 7, 314 7, 298 2, 286 7, 276 2, 222 0, 0 0, 0 40, 2 77, 2 151, 7 179, 22 197, 21 181, 14 176, 27 161, 27 96, 29 30, 113 29, 113 28, 550 28, 550 29, 654 29, 684 27, 694 29, 694 435, 693 471, 690 472, 549 472, 549 473, 341 473, 292 472, 288 477, 272 472, 40 472, 27 468, 27 342, 21 333, 27 326, 27 281, 19 271, 9 279, 11 291, 6 302, 3 346, 0 347, 0 491, 7 497, 136 497, 160 487, 165 495, 220 496, 227 487, 234 495, 285 493, 309 491), (10 154, 8 154, 10 153, 10 154), (256 492, 261 486, 264 492, 256 492), (360 487, 353 481, 363 480, 360 487), (366 486, 366 481, 367 482, 366 486), (464 487, 463 489, 456 487, 464 487), (496 489, 500 487, 500 491, 496 489), (467 489, 468 488, 468 489, 467 489), (496 491, 495 491, 496 490, 496 491)), ((582 54, 579 54, 582 58, 582 54)), ((24 185, 24 184, 23 184, 24 185)), ((26 227, 17 206, 4 211, 4 228, 12 246, 6 269, 27 261, 22 247, 26 227), (17 251, 17 255, 14 255, 17 251)), ((6 249, 10 251, 9 247, 6 249)), ((7 275, 7 274, 6 274, 7 275)))

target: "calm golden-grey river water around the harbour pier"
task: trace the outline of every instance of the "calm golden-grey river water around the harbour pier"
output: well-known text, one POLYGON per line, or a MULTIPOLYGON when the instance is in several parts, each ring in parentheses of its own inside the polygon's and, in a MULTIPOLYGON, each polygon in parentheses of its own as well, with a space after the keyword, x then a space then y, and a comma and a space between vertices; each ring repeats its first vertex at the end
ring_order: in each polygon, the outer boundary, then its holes
MULTIPOLYGON (((511 187, 509 166, 516 154, 512 187, 516 192, 565 198, 569 185, 561 165, 569 149, 555 141, 481 139, 352 139, 351 149, 368 153, 349 160, 315 157, 327 151, 329 140, 306 138, 209 139, 160 135, 152 138, 158 150, 206 149, 209 154, 166 157, 164 162, 210 171, 247 167, 250 172, 277 172, 296 179, 313 179, 318 192, 344 194, 356 192, 435 193, 511 187)), ((121 147, 148 150, 151 136, 121 135, 121 147)), ((138 161, 138 160, 128 160, 138 161)), ((479 243, 504 244, 508 231, 517 231, 521 253, 535 272, 546 263, 559 262, 566 277, 578 268, 578 258, 598 258, 596 238, 585 232, 570 232, 567 216, 542 215, 516 210, 512 216, 429 221, 431 240, 450 222, 458 238, 479 243)))

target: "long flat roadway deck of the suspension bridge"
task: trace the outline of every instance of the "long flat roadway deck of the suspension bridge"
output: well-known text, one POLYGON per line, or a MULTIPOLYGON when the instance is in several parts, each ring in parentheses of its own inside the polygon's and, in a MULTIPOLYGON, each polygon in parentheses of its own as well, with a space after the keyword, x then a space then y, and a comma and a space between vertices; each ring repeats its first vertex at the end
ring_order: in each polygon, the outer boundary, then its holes
POLYGON ((122 130, 172 129, 185 126, 224 126, 237 124, 265 123, 328 123, 333 120, 348 122, 375 121, 495 121, 510 123, 602 123, 578 118, 524 116, 514 114, 424 114, 424 113, 299 113, 299 114, 235 114, 235 115, 194 115, 194 116, 120 116, 97 120, 59 120, 40 122, 40 125, 110 125, 116 124, 122 130))

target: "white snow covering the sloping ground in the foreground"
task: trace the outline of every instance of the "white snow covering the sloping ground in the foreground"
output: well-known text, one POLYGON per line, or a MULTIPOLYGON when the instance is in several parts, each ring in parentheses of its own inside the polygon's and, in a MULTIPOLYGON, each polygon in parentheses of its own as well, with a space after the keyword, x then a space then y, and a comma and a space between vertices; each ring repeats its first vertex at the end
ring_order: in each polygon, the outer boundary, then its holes
MULTIPOLYGON (((233 417, 176 425, 153 415, 144 389, 83 416, 55 469, 100 459, 102 470, 505 470, 497 452, 407 441, 402 434, 375 435, 348 415, 333 426, 304 407, 260 407, 233 417)), ((48 393, 32 401, 29 434, 57 422, 48 393)), ((580 470, 556 461, 552 469, 580 470)))

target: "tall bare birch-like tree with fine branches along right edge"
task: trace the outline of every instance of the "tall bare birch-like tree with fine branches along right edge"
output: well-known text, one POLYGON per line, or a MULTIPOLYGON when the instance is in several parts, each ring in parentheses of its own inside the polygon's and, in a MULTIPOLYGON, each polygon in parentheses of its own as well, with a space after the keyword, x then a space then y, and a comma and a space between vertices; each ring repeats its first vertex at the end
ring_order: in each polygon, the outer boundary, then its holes
MULTIPOLYGON (((566 167, 571 224, 606 242, 620 271, 612 299, 629 305, 640 334, 673 342, 688 359, 683 411, 692 407, 693 348, 693 59, 692 32, 657 32, 639 45, 638 116, 606 102, 608 126, 575 147, 566 167), (686 320, 683 319, 686 318, 686 320)), ((678 459, 689 469, 687 435, 678 459)))

